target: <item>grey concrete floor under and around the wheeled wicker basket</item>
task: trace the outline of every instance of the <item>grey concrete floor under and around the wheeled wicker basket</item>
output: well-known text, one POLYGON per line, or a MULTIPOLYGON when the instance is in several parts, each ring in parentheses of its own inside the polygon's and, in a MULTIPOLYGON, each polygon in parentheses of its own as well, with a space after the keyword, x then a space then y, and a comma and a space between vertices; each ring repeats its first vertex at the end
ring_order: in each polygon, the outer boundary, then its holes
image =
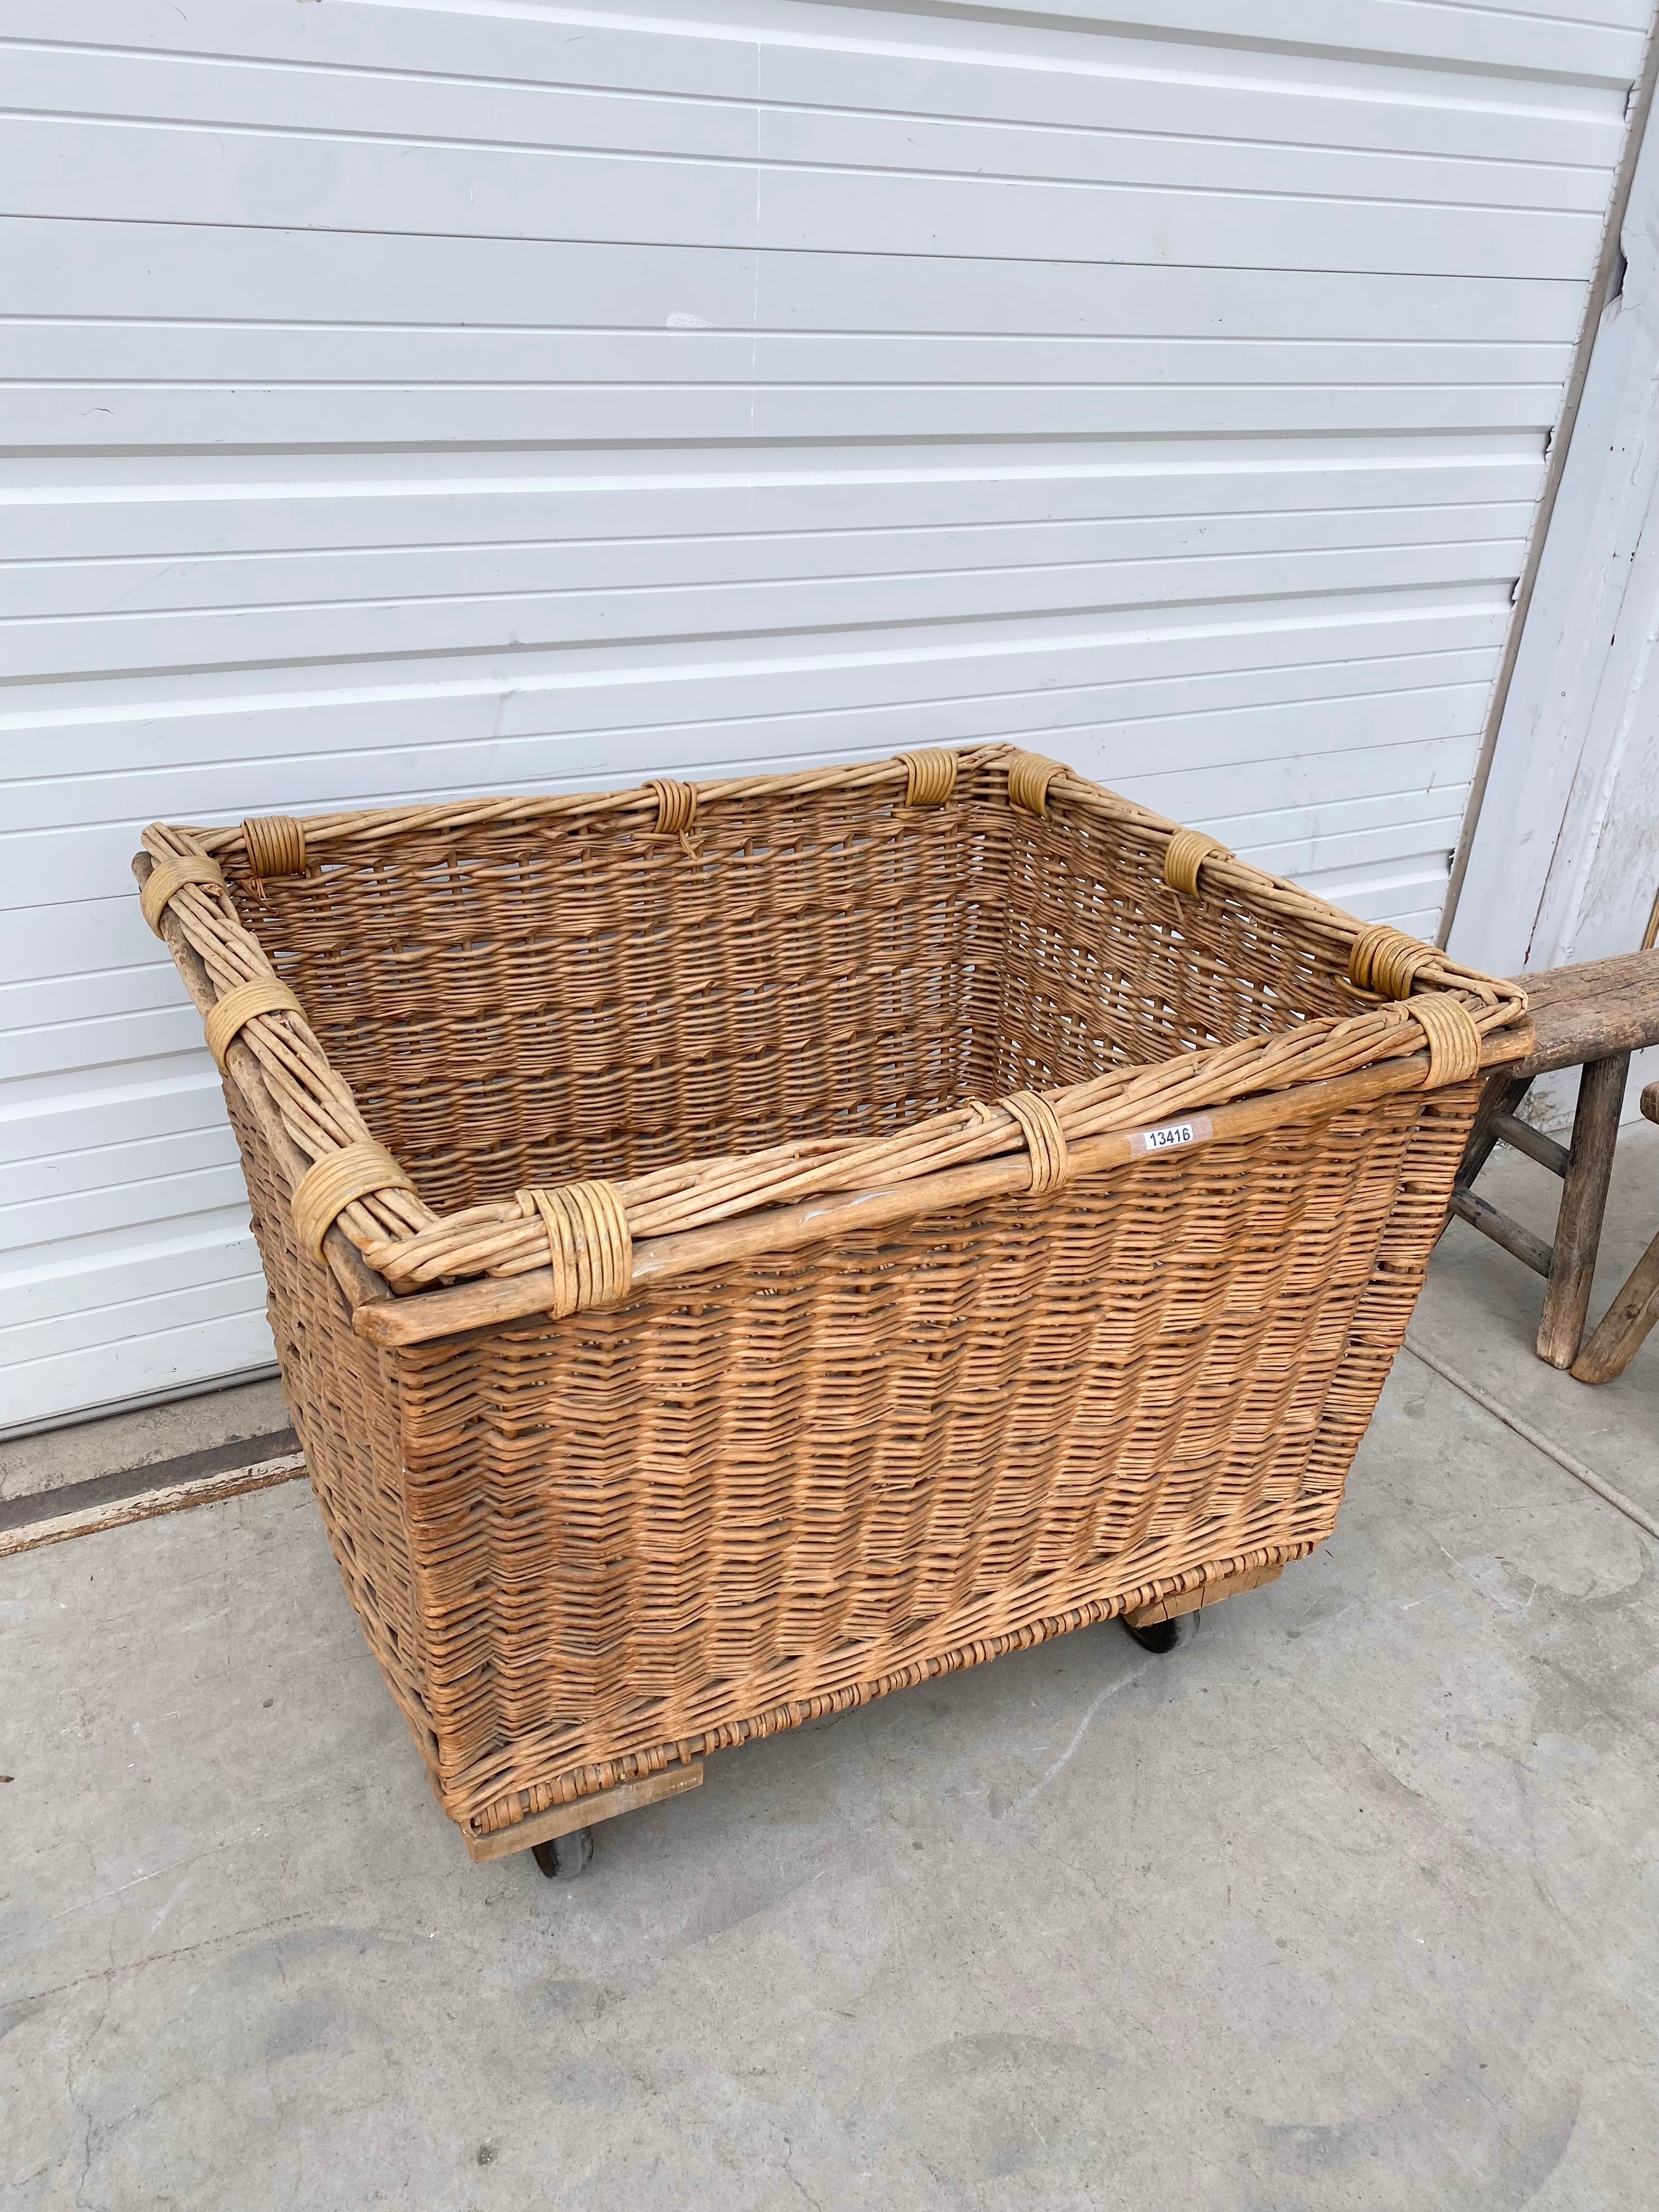
MULTIPOLYGON (((1593 1394, 1535 1314, 1458 1223, 1413 1327, 1659 1504, 1659 1338, 1593 1394)), ((1188 1650, 710 1761, 571 1885, 467 1860, 301 1484, 4 1562, 0 2203, 1652 2205, 1657 1557, 1402 1356, 1188 1650)))

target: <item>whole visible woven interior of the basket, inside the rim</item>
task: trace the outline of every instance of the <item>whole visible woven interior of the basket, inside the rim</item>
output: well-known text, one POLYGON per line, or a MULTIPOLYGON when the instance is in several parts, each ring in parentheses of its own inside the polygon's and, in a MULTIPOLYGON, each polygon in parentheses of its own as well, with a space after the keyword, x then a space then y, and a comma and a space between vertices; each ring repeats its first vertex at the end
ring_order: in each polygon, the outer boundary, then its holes
POLYGON ((1329 942, 1179 900, 1121 823, 867 790, 330 845, 232 894, 440 1212, 1352 1013, 1329 942))

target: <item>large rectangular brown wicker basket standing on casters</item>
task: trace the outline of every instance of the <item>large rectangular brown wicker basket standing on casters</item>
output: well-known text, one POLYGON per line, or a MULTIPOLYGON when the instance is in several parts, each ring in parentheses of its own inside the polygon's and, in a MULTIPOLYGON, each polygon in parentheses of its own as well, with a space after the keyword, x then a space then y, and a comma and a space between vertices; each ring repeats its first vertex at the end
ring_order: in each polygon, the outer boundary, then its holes
POLYGON ((1004 748, 144 847, 476 1856, 1312 1551, 1526 1048, 1513 987, 1004 748))

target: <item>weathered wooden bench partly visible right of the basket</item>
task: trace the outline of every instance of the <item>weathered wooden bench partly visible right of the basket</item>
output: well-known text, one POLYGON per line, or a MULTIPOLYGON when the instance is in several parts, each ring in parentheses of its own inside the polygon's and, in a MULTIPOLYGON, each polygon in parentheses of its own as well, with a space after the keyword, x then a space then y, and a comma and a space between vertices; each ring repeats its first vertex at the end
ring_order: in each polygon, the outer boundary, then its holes
MULTIPOLYGON (((1626 1316, 1615 1327, 1617 1347, 1613 1354, 1610 1340, 1604 1343, 1608 1325, 1615 1314, 1626 1310, 1644 1270, 1650 1270, 1659 1281, 1659 1254, 1650 1248, 1584 1347, 1584 1360, 1577 1360, 1590 1305, 1595 1254, 1601 1243, 1601 1217, 1608 1203, 1613 1146, 1619 1135, 1630 1053, 1659 1044, 1659 951, 1586 960, 1579 967, 1546 969, 1542 975, 1522 975, 1520 980, 1533 1011, 1535 1044, 1526 1060, 1498 1068, 1486 1084, 1458 1168, 1451 1210, 1544 1276, 1548 1287, 1537 1325, 1537 1356, 1551 1367, 1573 1367, 1584 1383, 1604 1383, 1628 1367, 1637 1345, 1655 1323, 1655 1301, 1644 1292, 1646 1305, 1641 1298, 1639 1305, 1648 1318, 1644 1321, 1641 1312, 1635 1318, 1626 1316), (1544 1130, 1515 1117, 1515 1108, 1533 1082, 1555 1068, 1584 1068, 1571 1146, 1557 1144, 1544 1130), (1551 1175, 1562 1177, 1562 1210, 1553 1243, 1533 1237, 1520 1221, 1475 1194, 1475 1177, 1491 1159, 1495 1144, 1509 1144, 1548 1168, 1551 1175), (1635 1334, 1630 1334, 1632 1329, 1635 1334), (1590 1363, 1590 1354, 1595 1354, 1597 1369, 1606 1367, 1606 1371, 1582 1371, 1590 1363), (1608 1367, 1608 1356, 1617 1356, 1617 1365, 1608 1367)), ((1648 1086, 1641 1108, 1659 1119, 1659 1102, 1652 1108, 1648 1104, 1655 1093, 1659 1093, 1659 1084, 1648 1086)))

